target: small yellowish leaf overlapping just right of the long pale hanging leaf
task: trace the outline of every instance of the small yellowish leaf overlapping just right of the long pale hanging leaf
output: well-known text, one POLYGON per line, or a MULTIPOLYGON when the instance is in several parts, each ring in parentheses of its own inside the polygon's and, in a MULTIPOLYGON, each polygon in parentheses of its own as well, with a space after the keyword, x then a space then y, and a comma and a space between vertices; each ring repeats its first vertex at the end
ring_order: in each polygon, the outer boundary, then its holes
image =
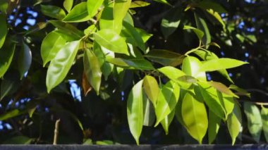
POLYGON ((152 101, 154 108, 157 106, 157 99, 159 94, 159 87, 157 80, 150 75, 146 75, 143 78, 143 87, 147 97, 152 101))

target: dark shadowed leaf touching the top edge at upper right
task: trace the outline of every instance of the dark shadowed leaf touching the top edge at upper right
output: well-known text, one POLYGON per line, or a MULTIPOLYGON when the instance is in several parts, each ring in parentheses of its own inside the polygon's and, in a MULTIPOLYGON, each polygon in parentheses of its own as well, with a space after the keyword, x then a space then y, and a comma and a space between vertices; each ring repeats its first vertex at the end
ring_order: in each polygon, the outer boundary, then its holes
POLYGON ((213 9, 214 11, 217 11, 219 13, 228 13, 228 11, 226 11, 226 9, 223 6, 221 6, 221 4, 211 0, 200 1, 200 3, 197 4, 197 7, 203 9, 213 9))

